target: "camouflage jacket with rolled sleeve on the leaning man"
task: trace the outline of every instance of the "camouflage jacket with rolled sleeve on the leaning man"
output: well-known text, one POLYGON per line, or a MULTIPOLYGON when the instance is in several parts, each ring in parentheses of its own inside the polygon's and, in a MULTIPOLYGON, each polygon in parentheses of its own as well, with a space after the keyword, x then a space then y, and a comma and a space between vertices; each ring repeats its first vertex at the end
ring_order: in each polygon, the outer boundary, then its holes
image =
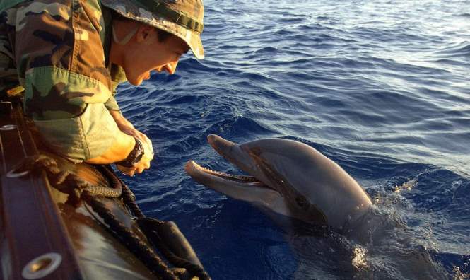
POLYGON ((74 161, 105 153, 119 131, 110 22, 100 0, 0 1, 0 90, 23 86, 25 115, 74 161))

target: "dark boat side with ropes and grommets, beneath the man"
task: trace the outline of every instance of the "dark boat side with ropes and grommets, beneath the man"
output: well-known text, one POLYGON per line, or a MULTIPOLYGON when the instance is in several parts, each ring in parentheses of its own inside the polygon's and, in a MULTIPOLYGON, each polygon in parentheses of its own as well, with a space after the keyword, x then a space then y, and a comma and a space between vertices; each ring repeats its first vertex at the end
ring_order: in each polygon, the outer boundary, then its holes
POLYGON ((0 100, 3 279, 209 279, 175 223, 146 217, 109 165, 48 151, 0 100))

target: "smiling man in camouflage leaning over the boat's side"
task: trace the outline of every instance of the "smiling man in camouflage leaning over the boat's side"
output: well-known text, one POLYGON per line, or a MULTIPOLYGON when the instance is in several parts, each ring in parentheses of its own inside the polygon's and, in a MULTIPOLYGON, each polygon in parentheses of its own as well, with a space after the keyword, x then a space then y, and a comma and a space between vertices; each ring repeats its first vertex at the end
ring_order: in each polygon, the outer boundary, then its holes
POLYGON ((0 2, 0 89, 24 88, 25 115, 72 161, 134 175, 153 148, 119 111, 117 84, 173 74, 189 49, 204 58, 201 0, 0 2), (19 83, 19 86, 18 86, 19 83))

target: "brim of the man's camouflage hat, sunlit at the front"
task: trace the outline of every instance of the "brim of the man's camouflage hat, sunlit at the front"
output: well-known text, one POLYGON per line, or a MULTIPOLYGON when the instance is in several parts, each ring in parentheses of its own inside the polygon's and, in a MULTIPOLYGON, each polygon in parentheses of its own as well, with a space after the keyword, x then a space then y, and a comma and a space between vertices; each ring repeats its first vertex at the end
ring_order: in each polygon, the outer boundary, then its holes
POLYGON ((167 21, 165 18, 146 11, 128 0, 102 0, 102 4, 112 8, 114 11, 117 11, 117 13, 121 14, 125 18, 131 18, 135 21, 146 23, 155 28, 165 30, 172 35, 180 37, 180 39, 187 43, 196 59, 204 59, 204 48, 202 47, 201 33, 195 30, 184 28, 181 25, 177 25, 171 21, 167 21))

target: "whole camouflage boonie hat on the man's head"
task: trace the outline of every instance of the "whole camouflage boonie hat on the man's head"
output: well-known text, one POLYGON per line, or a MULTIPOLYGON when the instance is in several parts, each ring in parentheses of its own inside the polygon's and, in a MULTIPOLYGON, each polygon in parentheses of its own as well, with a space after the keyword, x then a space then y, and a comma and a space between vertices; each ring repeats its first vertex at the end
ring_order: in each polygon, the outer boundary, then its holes
POLYGON ((197 59, 204 59, 202 0, 102 0, 101 3, 126 18, 180 37, 197 59))

